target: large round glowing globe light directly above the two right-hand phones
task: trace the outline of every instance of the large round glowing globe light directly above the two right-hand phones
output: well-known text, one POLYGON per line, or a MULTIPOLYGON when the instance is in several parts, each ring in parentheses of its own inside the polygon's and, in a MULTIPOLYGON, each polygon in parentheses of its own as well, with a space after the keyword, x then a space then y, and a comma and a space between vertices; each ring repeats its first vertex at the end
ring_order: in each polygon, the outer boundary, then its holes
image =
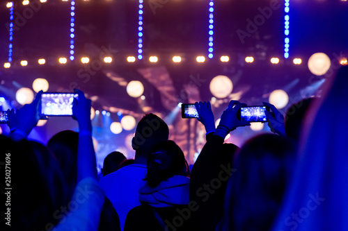
POLYGON ((213 96, 223 99, 231 94, 233 84, 227 76, 215 76, 212 81, 210 81, 209 89, 213 96))

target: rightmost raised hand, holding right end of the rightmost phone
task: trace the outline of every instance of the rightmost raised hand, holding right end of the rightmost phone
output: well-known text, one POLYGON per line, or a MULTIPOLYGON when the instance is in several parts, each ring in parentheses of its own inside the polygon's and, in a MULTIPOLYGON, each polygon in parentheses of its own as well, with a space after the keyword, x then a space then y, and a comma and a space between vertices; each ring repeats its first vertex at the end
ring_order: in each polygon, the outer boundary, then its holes
POLYGON ((271 128, 271 132, 274 132, 278 135, 284 135, 285 136, 285 126, 284 126, 284 116, 281 114, 278 109, 272 105, 271 103, 263 102, 263 105, 270 108, 271 111, 274 113, 274 117, 272 117, 270 112, 264 112, 267 117, 268 126, 271 128))

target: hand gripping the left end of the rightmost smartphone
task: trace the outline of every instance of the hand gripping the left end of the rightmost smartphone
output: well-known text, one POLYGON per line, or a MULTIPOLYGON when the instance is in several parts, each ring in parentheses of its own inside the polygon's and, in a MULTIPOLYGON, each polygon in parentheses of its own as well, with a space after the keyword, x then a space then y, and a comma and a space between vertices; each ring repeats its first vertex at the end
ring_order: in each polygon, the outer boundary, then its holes
POLYGON ((246 104, 239 103, 239 101, 230 101, 228 108, 221 115, 221 121, 219 125, 226 126, 230 131, 235 130, 238 127, 250 126, 249 122, 240 121, 237 118, 237 112, 242 107, 246 107, 246 104))

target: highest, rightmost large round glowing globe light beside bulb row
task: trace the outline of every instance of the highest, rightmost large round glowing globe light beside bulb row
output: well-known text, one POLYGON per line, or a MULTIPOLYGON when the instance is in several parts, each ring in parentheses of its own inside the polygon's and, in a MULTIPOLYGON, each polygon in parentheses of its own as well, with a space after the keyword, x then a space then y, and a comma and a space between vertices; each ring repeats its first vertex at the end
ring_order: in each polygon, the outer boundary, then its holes
POLYGON ((314 53, 308 60, 308 69, 316 76, 322 76, 329 71, 331 60, 325 53, 314 53))

